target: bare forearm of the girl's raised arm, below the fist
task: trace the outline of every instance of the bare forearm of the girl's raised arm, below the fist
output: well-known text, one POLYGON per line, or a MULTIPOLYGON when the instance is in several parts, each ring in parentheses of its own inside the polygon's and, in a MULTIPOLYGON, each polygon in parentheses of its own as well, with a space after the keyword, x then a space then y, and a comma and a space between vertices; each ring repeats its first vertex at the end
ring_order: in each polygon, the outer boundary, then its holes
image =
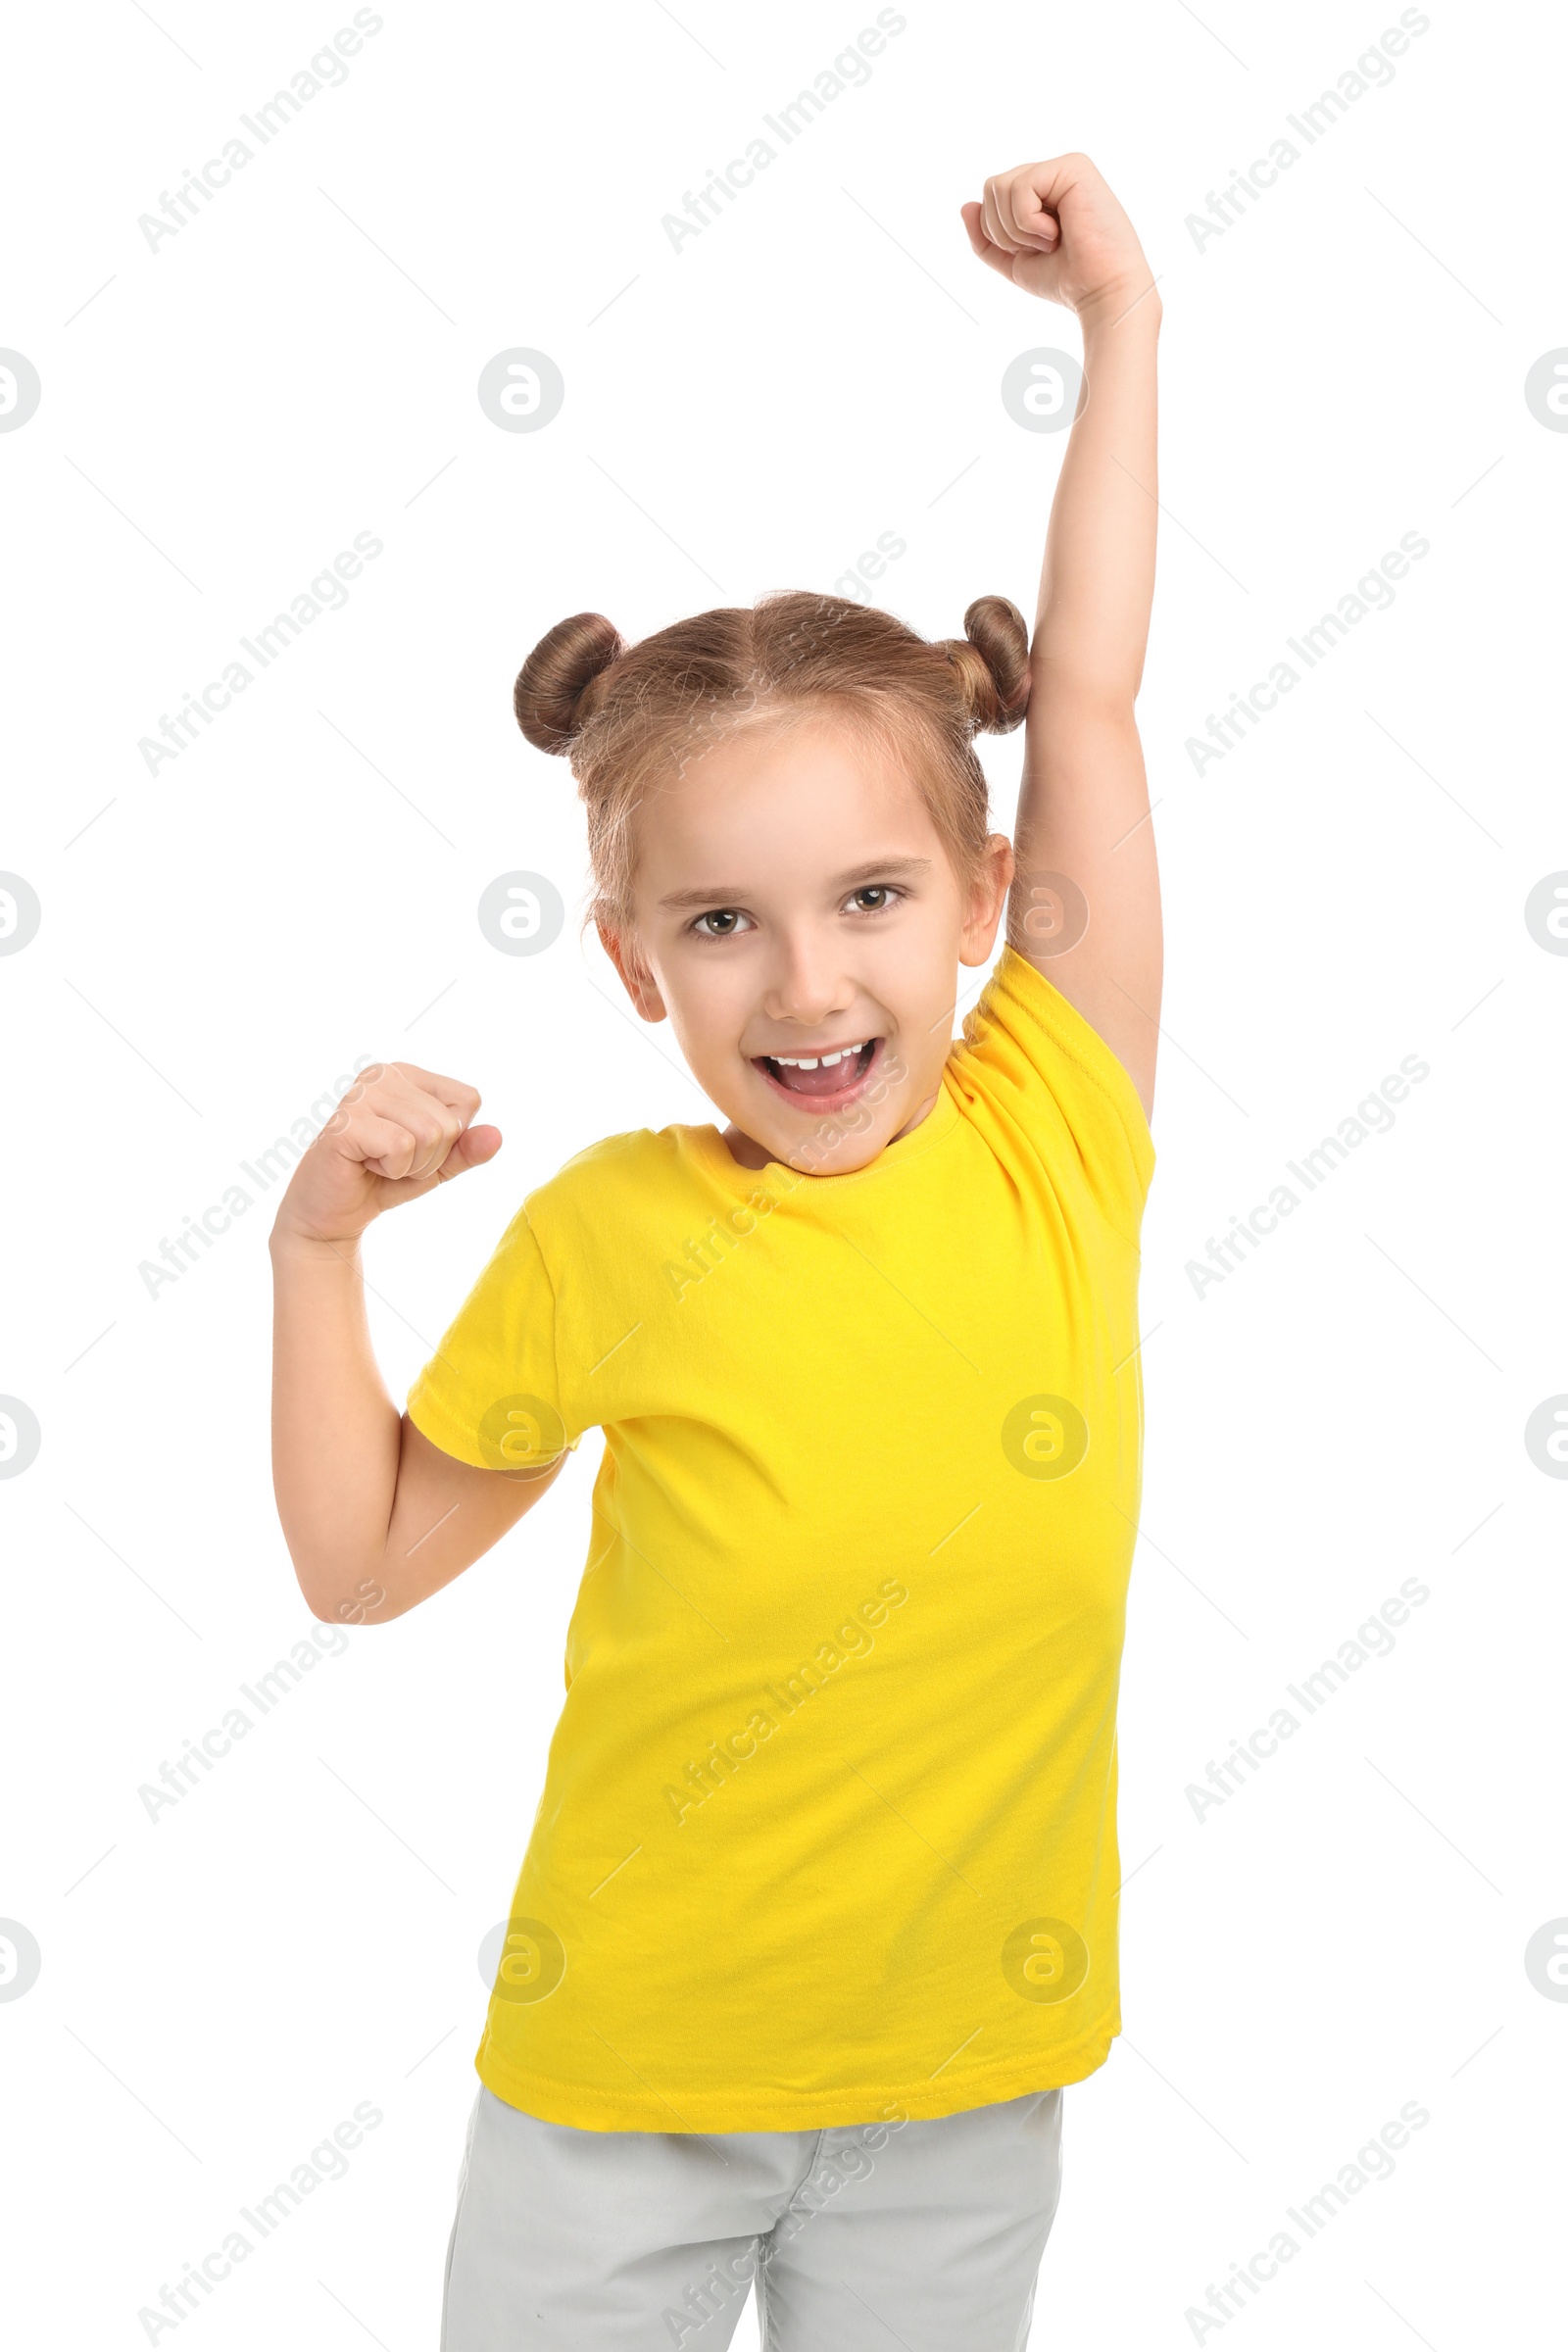
POLYGON ((1032 699, 1131 713, 1154 597, 1159 294, 1084 315, 1086 402, 1067 442, 1039 574, 1032 699))

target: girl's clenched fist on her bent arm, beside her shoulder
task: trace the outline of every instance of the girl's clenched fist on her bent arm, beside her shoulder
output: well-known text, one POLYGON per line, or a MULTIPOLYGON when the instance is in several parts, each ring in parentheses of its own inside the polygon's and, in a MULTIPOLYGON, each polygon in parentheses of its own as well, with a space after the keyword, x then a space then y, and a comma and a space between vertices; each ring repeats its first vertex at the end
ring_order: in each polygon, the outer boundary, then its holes
POLYGON ((294 1169, 273 1240, 353 1244, 383 1209, 494 1160, 501 1129, 470 1127, 477 1108, 456 1077, 371 1063, 294 1169))

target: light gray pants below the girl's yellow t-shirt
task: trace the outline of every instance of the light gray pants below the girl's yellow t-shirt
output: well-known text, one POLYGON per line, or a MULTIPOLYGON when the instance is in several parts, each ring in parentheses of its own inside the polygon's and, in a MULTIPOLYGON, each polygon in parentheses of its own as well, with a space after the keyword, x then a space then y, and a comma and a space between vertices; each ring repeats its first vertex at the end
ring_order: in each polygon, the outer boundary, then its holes
POLYGON ((922 2124, 576 2131, 482 2089, 442 2352, 1023 2352, 1063 2093, 922 2124))

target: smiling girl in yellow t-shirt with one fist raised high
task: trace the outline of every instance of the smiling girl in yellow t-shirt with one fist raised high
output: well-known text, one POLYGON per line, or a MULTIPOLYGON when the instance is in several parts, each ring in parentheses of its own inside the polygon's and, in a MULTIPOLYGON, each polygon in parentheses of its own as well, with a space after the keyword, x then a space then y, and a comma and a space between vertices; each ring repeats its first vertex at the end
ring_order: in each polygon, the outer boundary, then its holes
POLYGON ((1133 699, 1159 296, 1084 155, 964 207, 1084 329, 1034 642, 776 595, 562 621, 517 720, 722 1127, 578 1152, 397 1414, 360 1235, 501 1148, 364 1073, 273 1232, 317 1618, 451 1583, 604 1430, 477 2051, 444 2352, 1016 2352, 1117 1994, 1159 903, 1133 699), (976 731, 1027 713, 1016 847, 976 731), (1009 901, 1011 891, 1011 901, 1009 901), (952 1037, 959 967, 1009 943, 952 1037))

